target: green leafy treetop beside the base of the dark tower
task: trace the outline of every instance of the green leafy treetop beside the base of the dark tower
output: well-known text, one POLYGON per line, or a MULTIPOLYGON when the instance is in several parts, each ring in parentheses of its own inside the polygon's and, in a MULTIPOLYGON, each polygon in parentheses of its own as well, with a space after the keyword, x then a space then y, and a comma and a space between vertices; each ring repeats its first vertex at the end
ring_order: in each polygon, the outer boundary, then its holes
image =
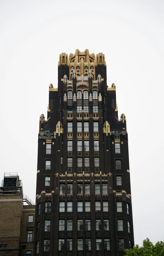
POLYGON ((126 256, 164 256, 164 242, 153 245, 149 238, 143 240, 143 246, 136 244, 133 249, 125 249, 126 256))

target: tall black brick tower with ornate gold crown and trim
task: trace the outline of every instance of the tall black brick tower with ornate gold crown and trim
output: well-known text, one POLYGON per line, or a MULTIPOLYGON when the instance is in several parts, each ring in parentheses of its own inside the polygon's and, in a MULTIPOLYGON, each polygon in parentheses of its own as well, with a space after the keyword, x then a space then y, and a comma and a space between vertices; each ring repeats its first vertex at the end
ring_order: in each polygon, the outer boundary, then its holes
POLYGON ((35 255, 119 256, 134 245, 126 117, 106 62, 60 54, 38 136, 35 255))

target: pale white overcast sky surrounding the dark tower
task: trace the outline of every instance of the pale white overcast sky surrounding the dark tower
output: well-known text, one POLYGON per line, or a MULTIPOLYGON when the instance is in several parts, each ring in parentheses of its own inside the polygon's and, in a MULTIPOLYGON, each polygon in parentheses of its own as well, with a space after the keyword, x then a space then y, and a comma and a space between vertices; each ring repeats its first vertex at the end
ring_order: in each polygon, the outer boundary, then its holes
POLYGON ((0 0, 1 161, 35 202, 39 116, 57 87, 59 54, 103 52, 127 118, 135 244, 164 241, 161 0, 0 0))

